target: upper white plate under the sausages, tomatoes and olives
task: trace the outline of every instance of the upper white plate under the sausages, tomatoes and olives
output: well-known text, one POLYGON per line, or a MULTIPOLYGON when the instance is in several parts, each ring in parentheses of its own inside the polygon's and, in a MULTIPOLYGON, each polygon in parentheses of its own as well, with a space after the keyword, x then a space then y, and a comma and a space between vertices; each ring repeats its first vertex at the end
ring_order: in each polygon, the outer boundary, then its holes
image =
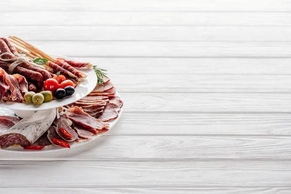
MULTIPOLYGON (((72 61, 77 61, 70 57, 65 57, 65 56, 60 56, 60 55, 53 55, 53 56, 65 58, 72 61)), ((20 103, 20 102, 0 102, 0 107, 13 109, 13 110, 19 110, 19 111, 40 111, 40 110, 57 108, 60 106, 65 106, 67 104, 76 102, 80 100, 81 98, 90 94, 94 90, 97 84, 97 76, 93 69, 87 69, 87 68, 77 68, 77 69, 84 72, 87 75, 87 78, 82 80, 78 84, 78 86, 75 88, 75 93, 72 96, 65 97, 64 99, 60 99, 60 100, 55 99, 49 102, 44 102, 41 105, 35 105, 31 103, 20 103)))

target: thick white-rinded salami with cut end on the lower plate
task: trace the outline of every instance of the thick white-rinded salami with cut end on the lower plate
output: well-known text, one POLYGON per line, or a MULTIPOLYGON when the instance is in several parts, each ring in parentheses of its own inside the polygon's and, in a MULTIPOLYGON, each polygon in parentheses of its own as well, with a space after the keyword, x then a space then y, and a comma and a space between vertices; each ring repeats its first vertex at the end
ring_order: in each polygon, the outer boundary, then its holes
POLYGON ((51 126, 57 114, 56 109, 35 111, 0 135, 0 148, 29 146, 41 137, 51 126))

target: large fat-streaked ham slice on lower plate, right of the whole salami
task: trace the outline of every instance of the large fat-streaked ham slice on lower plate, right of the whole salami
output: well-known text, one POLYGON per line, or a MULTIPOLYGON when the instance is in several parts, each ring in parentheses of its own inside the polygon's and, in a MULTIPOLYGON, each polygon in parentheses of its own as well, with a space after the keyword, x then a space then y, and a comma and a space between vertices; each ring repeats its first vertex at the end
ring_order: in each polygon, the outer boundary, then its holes
POLYGON ((77 123, 91 132, 97 134, 97 130, 102 130, 103 128, 108 128, 109 124, 102 122, 100 119, 96 119, 85 113, 81 108, 75 106, 67 110, 65 116, 69 118, 74 123, 77 123))

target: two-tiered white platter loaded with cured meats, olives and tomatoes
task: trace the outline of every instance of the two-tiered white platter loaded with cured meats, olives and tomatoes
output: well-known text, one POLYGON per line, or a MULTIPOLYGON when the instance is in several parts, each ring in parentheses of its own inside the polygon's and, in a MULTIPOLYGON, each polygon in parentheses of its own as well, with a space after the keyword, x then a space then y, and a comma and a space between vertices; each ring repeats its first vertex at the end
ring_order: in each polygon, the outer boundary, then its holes
POLYGON ((0 106, 27 111, 0 116, 1 150, 73 148, 117 123, 123 102, 106 70, 58 57, 15 36, 0 38, 0 106))

